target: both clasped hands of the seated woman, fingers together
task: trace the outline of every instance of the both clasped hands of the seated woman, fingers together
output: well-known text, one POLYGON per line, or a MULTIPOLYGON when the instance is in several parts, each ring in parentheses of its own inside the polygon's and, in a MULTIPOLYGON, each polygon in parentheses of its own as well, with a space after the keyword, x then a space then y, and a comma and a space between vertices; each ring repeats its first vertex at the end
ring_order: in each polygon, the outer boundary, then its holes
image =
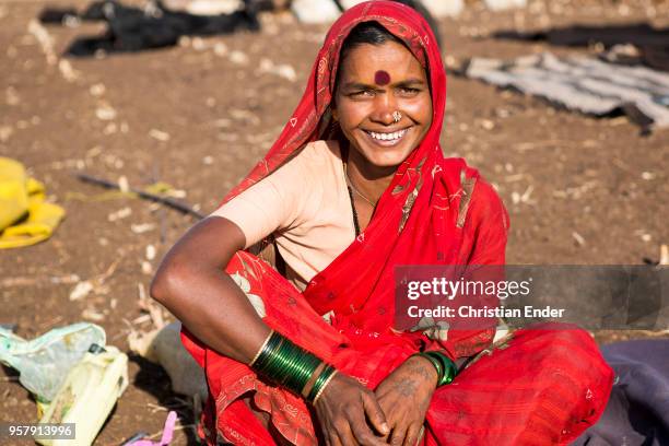
POLYGON ((396 368, 376 391, 338 374, 315 406, 326 444, 414 446, 436 382, 435 368, 418 356, 396 368))

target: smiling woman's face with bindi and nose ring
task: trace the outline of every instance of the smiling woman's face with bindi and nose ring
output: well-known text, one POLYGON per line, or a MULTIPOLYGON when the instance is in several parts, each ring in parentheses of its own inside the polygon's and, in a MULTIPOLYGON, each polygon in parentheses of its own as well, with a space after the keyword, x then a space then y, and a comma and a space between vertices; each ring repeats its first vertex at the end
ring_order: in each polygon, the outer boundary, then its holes
POLYGON ((353 47, 340 70, 332 113, 343 134, 372 165, 398 166, 432 124, 425 70, 396 42, 353 47))

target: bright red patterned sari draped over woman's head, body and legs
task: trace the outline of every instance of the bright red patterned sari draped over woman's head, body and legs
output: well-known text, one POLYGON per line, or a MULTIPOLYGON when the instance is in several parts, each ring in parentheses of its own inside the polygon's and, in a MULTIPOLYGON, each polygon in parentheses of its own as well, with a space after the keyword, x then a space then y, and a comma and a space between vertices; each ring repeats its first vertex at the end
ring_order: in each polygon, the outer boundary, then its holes
MULTIPOLYGON (((436 389, 423 445, 567 443, 599 418, 612 385, 612 372, 586 332, 574 327, 518 330, 490 349, 493 326, 450 330, 446 341, 392 330, 395 266, 503 265, 508 231, 506 210, 492 187, 462 160, 442 154, 446 75, 434 35, 412 9, 374 1, 342 14, 279 140, 225 201, 327 134, 342 42, 365 21, 379 22, 404 42, 427 70, 432 127, 399 166, 367 228, 304 292, 246 251, 237 253, 226 271, 244 277, 247 294, 262 300, 268 326, 372 389, 419 350, 441 349, 457 359, 488 348, 451 385, 436 389), (328 313, 330 324, 322 318, 328 313)), ((234 444, 274 443, 240 399, 249 392, 285 439, 317 444, 318 422, 304 400, 259 379, 248 366, 209 349, 187 330, 183 340, 206 369, 210 401, 203 418, 210 444, 216 433, 234 444)))

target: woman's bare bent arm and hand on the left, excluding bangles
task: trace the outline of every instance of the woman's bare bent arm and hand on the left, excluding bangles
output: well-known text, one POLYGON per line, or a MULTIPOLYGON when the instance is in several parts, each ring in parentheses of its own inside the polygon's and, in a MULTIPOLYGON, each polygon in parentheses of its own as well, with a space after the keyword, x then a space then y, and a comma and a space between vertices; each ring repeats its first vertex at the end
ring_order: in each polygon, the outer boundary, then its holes
MULTIPOLYGON (((230 220, 201 221, 167 253, 151 283, 151 295, 210 348, 249 363, 270 328, 224 271, 245 244, 244 233, 230 220)), ((365 422, 369 419, 377 432, 388 433, 380 406, 371 390, 349 376, 334 376, 316 413, 329 445, 385 444, 365 422)))

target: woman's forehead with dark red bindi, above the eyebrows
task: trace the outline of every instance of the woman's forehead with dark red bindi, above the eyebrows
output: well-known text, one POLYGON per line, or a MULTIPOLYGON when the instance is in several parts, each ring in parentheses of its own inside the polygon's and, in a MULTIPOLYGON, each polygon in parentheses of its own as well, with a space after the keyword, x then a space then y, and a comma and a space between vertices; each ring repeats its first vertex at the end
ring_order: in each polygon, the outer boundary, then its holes
POLYGON ((395 42, 355 46, 348 51, 340 70, 344 82, 354 79, 384 85, 408 78, 425 79, 425 70, 413 54, 395 42))

